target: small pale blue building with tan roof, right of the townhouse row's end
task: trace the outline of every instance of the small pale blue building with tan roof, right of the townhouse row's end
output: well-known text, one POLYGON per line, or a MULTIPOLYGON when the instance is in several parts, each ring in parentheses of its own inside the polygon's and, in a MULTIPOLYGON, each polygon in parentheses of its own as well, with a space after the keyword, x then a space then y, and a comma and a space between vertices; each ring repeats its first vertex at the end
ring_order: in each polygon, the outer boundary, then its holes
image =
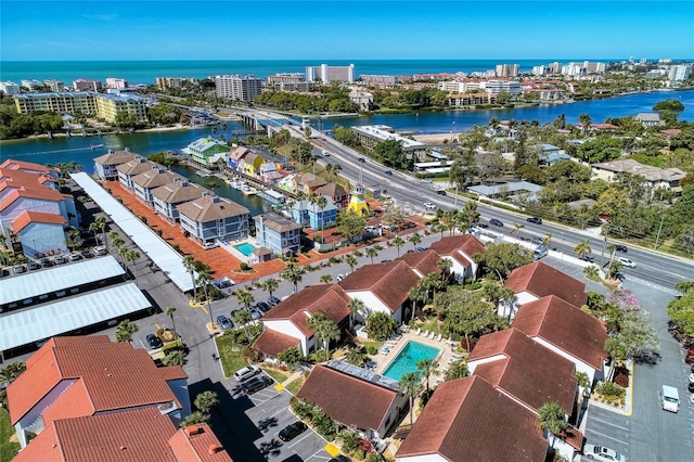
POLYGON ((272 256, 298 255, 301 246, 301 226, 281 215, 270 213, 253 217, 256 222, 256 245, 267 247, 272 256))

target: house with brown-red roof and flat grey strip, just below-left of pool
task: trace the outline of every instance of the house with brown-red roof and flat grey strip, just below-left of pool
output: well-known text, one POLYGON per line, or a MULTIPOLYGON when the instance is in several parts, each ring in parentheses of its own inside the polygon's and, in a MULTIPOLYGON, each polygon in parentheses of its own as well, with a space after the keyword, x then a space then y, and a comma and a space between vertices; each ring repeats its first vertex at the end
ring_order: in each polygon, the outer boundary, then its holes
POLYGON ((369 439, 384 438, 408 407, 398 382, 336 360, 314 365, 296 397, 369 439))

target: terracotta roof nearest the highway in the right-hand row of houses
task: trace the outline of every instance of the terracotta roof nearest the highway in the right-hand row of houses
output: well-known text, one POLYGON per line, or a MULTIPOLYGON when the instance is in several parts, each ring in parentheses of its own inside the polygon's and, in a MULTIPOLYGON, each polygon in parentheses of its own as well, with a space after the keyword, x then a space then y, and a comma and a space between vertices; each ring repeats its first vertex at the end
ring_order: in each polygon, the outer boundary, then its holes
POLYGON ((542 261, 516 268, 504 285, 516 294, 529 292, 538 298, 556 295, 576 307, 586 305, 588 300, 586 284, 542 261))

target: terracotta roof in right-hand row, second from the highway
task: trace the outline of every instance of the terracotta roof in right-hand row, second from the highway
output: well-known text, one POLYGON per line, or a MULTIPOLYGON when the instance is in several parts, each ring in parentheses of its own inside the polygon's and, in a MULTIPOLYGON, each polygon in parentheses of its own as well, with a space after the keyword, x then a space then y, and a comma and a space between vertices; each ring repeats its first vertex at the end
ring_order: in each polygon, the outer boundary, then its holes
POLYGON ((578 358, 595 370, 606 359, 605 325, 571 304, 550 295, 525 304, 518 310, 513 326, 530 337, 539 337, 578 358))

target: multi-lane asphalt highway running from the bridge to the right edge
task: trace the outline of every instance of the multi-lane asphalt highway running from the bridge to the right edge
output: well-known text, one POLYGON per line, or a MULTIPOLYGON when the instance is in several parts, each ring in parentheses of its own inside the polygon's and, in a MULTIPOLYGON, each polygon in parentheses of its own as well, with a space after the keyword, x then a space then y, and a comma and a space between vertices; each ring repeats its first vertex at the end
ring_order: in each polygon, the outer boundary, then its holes
MULTIPOLYGON (((347 147, 329 137, 322 137, 314 131, 312 140, 318 146, 314 150, 319 162, 322 164, 339 164, 342 167, 340 175, 349 178, 351 181, 358 181, 360 170, 363 175, 363 184, 365 188, 385 189, 399 205, 403 206, 410 213, 425 213, 424 203, 430 202, 438 208, 444 210, 451 209, 455 206, 457 201, 453 196, 439 195, 437 190, 444 189, 441 183, 422 183, 410 176, 393 170, 390 176, 385 175, 387 167, 376 163, 375 161, 364 157, 361 153, 347 147), (331 153, 329 157, 321 155, 321 151, 326 150, 331 153), (359 159, 364 162, 360 163, 359 159)), ((466 202, 465 198, 458 200, 458 207, 462 208, 466 202)), ((590 239, 590 247, 592 249, 591 257, 595 262, 600 262, 602 249, 605 246, 600 230, 576 230, 563 224, 544 221, 542 224, 534 224, 527 220, 526 215, 514 211, 491 207, 478 203, 478 211, 480 213, 480 221, 488 222, 490 218, 500 219, 503 228, 493 227, 496 232, 510 234, 514 223, 523 224, 524 228, 519 232, 519 236, 529 238, 537 235, 543 238, 547 233, 552 233, 551 246, 567 255, 575 255, 574 247, 581 241, 590 239)), ((607 245, 617 243, 616 241, 607 241, 607 245)), ((622 273, 633 282, 646 284, 650 286, 666 287, 669 293, 674 294, 673 285, 678 282, 694 279, 694 261, 691 259, 672 257, 660 252, 647 248, 628 245, 627 254, 618 254, 631 259, 637 264, 637 268, 625 267, 622 273)), ((609 258, 605 251, 603 262, 609 258)))

